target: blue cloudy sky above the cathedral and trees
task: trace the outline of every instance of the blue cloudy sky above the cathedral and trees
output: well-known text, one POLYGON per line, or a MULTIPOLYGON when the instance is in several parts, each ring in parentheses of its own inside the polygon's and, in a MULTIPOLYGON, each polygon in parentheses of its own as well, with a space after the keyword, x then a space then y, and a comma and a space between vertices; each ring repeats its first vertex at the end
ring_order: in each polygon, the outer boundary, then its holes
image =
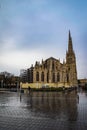
POLYGON ((69 29, 78 78, 87 78, 87 0, 0 0, 0 72, 19 75, 51 56, 62 62, 69 29))

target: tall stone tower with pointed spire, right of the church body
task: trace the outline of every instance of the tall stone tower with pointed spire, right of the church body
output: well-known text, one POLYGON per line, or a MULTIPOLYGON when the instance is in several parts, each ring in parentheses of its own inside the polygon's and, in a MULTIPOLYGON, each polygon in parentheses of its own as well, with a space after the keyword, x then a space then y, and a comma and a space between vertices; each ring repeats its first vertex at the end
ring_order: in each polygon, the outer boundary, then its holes
POLYGON ((70 31, 68 39, 68 51, 66 52, 66 73, 69 85, 77 86, 78 82, 77 82, 76 57, 73 50, 73 43, 70 31))

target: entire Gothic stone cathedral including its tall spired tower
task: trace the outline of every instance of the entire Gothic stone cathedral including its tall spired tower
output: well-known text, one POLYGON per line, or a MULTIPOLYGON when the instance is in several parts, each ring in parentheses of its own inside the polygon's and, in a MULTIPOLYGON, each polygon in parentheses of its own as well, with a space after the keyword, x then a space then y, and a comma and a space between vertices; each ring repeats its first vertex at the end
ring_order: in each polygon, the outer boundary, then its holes
POLYGON ((70 87, 77 86, 76 56, 73 50, 72 37, 69 31, 68 50, 66 60, 50 57, 45 61, 35 63, 35 66, 22 71, 21 81, 31 87, 70 87))

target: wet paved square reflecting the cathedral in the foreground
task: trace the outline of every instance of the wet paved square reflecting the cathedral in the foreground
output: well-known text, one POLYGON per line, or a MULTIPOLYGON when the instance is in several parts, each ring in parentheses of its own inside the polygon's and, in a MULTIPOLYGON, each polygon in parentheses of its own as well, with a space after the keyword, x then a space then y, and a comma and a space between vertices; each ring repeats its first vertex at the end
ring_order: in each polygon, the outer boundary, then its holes
POLYGON ((86 130, 87 92, 0 92, 0 130, 86 130))

